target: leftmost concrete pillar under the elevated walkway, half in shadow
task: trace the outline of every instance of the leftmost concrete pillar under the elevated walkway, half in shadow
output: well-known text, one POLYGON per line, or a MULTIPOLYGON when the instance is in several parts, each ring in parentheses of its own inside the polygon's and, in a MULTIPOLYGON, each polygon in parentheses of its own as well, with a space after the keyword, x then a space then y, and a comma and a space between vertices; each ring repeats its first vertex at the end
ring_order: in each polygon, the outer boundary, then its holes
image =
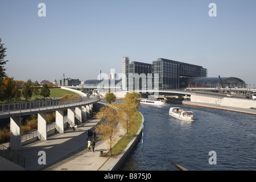
POLYGON ((11 150, 21 150, 21 118, 10 118, 10 143, 11 150))

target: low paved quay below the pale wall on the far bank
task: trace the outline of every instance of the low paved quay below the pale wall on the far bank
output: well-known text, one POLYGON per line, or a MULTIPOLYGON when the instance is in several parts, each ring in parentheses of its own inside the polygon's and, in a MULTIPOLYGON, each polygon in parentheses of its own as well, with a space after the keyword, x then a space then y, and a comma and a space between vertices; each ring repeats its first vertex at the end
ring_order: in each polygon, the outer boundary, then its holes
POLYGON ((185 105, 193 105, 193 106, 200 106, 200 107, 209 107, 213 109, 221 109, 221 110, 229 110, 235 111, 239 113, 246 113, 246 114, 254 114, 256 115, 256 108, 255 109, 246 109, 241 107, 229 107, 229 106, 220 106, 216 104, 208 104, 208 103, 201 103, 201 102, 190 102, 190 101, 183 101, 185 105))

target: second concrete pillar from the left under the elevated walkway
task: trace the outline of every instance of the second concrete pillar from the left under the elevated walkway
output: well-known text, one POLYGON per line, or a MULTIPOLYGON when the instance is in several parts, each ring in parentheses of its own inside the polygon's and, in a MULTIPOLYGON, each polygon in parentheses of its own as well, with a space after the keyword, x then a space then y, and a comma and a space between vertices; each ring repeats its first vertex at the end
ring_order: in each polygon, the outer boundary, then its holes
POLYGON ((47 120, 46 113, 38 113, 38 132, 40 140, 47 140, 47 120))

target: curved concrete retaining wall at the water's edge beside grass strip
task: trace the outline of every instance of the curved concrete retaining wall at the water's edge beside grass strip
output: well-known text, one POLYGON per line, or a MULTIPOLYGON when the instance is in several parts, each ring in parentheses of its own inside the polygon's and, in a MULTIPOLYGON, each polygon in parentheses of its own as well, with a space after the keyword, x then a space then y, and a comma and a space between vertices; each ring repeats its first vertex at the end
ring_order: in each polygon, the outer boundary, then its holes
MULTIPOLYGON (((141 113, 140 113, 141 114, 141 113)), ((142 114, 141 114, 142 115, 142 114)), ((142 115, 142 123, 144 122, 144 117, 142 115)), ((118 168, 122 165, 123 161, 127 158, 127 156, 130 154, 131 150, 133 150, 133 147, 136 143, 138 143, 139 139, 142 135, 142 125, 139 128, 137 134, 134 136, 134 138, 130 141, 130 143, 127 145, 125 150, 121 152, 117 156, 117 158, 114 160, 114 162, 109 166, 108 171, 117 171, 118 168)))

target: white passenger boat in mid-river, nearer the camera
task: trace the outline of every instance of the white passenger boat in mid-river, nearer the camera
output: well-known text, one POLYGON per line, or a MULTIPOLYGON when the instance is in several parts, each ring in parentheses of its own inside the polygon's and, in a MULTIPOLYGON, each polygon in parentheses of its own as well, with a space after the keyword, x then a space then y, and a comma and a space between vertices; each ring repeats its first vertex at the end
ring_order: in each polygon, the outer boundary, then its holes
POLYGON ((194 113, 192 111, 184 111, 180 107, 171 107, 169 110, 169 114, 172 117, 175 117, 184 121, 195 121, 194 113))

